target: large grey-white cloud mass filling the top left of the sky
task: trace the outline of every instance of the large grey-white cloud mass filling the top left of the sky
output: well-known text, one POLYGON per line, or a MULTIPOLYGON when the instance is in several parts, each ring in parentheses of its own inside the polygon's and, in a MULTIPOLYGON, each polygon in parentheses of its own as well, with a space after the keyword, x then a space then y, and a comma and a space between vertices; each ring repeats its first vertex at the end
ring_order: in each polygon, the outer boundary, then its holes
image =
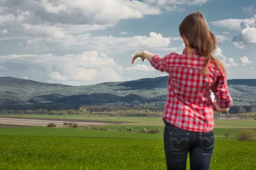
POLYGON ((207 0, 2 0, 0 27, 10 34, 2 39, 64 36, 115 26, 120 20, 182 11, 177 5, 207 0), (100 4, 100 5, 99 5, 100 4), (36 34, 39 33, 39 34, 36 34), (22 35, 22 36, 21 36, 22 35))

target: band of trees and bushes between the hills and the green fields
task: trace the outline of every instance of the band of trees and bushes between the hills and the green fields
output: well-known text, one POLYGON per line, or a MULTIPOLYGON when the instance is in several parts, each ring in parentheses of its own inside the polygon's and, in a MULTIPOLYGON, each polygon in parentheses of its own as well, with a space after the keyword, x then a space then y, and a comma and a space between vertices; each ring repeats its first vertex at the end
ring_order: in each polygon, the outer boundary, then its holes
MULTIPOLYGON (((49 114, 49 115, 107 115, 107 116, 162 116, 164 106, 120 106, 120 105, 97 105, 97 106, 80 106, 72 109, 1 109, 0 114, 49 114)), ((256 118, 256 107, 250 108, 249 111, 245 107, 240 106, 237 113, 215 113, 215 118, 239 117, 239 118, 256 118)))

